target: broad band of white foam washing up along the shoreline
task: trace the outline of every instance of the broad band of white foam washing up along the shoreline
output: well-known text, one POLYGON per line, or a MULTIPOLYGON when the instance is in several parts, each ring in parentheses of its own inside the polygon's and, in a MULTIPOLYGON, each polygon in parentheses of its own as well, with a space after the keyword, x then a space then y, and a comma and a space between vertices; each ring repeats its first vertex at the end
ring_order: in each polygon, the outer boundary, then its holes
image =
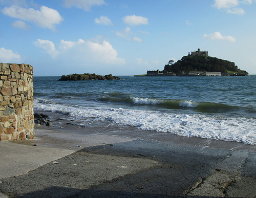
MULTIPOLYGON (((69 114, 82 121, 84 118, 108 119, 117 124, 135 126, 186 137, 210 138, 256 145, 255 118, 228 118, 200 114, 174 114, 124 108, 81 107, 40 103, 35 109, 69 114)), ((189 103, 188 103, 189 104, 189 103)))

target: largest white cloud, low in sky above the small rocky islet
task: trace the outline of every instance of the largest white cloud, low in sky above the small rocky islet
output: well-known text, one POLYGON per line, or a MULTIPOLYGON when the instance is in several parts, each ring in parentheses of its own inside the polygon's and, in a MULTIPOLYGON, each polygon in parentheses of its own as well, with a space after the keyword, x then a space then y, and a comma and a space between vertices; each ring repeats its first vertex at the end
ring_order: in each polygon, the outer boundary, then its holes
MULTIPOLYGON (((34 45, 44 52, 48 53, 54 59, 66 58, 70 61, 81 60, 84 62, 96 62, 107 64, 124 64, 123 58, 118 58, 117 51, 112 45, 103 40, 100 41, 85 41, 78 39, 78 41, 60 40, 59 49, 50 40, 37 39, 34 45)), ((83 63, 84 63, 83 62, 83 63)))

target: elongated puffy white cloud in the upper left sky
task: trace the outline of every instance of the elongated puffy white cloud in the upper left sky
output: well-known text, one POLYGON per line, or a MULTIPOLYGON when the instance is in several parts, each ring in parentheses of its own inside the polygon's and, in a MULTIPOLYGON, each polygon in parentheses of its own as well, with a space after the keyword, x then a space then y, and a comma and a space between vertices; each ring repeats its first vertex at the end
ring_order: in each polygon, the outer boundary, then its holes
POLYGON ((27 9, 13 5, 11 7, 5 7, 2 12, 7 16, 32 21, 39 27, 49 28, 51 30, 55 30, 55 25, 63 20, 57 10, 46 6, 42 6, 40 10, 35 10, 33 8, 27 9))

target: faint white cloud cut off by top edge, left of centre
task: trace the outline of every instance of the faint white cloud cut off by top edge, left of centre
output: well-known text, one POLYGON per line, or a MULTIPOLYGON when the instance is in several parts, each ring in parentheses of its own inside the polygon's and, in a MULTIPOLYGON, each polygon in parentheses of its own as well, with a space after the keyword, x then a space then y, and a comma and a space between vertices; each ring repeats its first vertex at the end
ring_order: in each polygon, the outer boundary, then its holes
POLYGON ((93 6, 104 5, 104 0, 63 0, 65 7, 77 7, 84 11, 90 11, 93 6))

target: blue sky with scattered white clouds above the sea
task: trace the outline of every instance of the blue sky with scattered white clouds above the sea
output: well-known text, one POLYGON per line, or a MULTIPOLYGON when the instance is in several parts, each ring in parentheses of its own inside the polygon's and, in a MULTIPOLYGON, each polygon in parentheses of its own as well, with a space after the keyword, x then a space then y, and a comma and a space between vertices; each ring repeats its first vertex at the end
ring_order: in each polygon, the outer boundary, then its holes
POLYGON ((256 0, 0 0, 0 62, 123 76, 200 48, 256 74, 255 11, 256 0))

